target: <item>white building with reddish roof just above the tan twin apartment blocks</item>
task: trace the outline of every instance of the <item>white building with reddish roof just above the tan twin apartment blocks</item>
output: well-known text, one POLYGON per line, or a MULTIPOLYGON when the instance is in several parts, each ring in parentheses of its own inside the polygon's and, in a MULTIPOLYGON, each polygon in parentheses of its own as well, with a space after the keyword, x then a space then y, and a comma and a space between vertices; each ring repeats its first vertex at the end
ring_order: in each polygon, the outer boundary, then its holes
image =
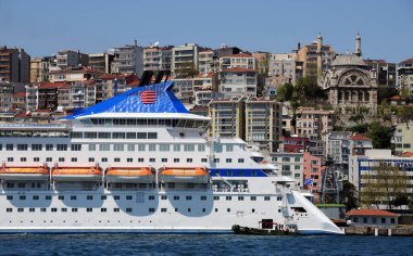
POLYGON ((256 72, 245 67, 220 72, 220 92, 226 97, 256 95, 256 72))

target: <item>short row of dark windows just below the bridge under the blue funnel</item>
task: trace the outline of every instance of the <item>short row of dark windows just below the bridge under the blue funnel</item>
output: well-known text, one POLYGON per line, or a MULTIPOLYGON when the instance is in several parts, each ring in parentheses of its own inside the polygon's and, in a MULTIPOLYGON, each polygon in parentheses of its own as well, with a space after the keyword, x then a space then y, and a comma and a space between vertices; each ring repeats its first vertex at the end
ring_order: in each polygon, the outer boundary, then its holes
POLYGON ((73 139, 150 139, 157 140, 158 132, 96 132, 96 131, 71 131, 73 139))

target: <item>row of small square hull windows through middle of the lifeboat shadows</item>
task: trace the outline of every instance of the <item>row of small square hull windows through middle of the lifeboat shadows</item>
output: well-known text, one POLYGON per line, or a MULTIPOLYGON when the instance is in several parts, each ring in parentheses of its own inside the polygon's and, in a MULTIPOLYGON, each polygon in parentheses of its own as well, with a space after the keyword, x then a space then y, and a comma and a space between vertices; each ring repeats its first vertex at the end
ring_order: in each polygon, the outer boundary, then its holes
MULTIPOLYGON (((98 196, 98 197, 99 197, 99 196, 98 196)), ((221 197, 221 196, 218 196, 218 195, 214 195, 213 200, 214 200, 214 201, 220 201, 220 197, 221 197)), ((222 197, 224 197, 224 196, 222 196, 222 197)), ((256 201, 256 196, 254 196, 254 195, 253 195, 253 196, 242 196, 242 195, 237 196, 238 201, 243 201, 245 197, 250 197, 250 201, 256 201)), ((13 195, 8 195, 7 199, 8 199, 9 201, 11 201, 11 200, 13 200, 14 197, 13 197, 13 195)), ((26 199, 27 199, 27 195, 18 195, 18 200, 26 200, 26 199)), ((37 200, 39 200, 39 195, 33 195, 32 199, 33 199, 34 201, 37 201, 37 200)), ((51 195, 46 195, 46 196, 45 196, 45 200, 51 200, 51 199, 52 199, 51 195)), ((65 196, 64 196, 64 195, 59 195, 58 199, 59 199, 59 200, 64 200, 65 196)), ((74 200, 77 200, 77 195, 71 195, 71 196, 67 196, 66 199, 70 199, 71 201, 74 201, 74 200)), ((87 199, 87 200, 93 200, 93 195, 86 195, 86 199, 87 199)), ((95 199, 96 199, 96 197, 95 197, 95 199)), ((107 195, 101 195, 101 196, 100 196, 100 200, 107 200, 107 199, 108 199, 107 195)), ((125 199, 126 199, 126 200, 133 200, 134 196, 133 196, 133 195, 126 195, 125 199)), ((121 200, 121 195, 113 195, 113 200, 116 200, 116 201, 117 201, 117 200, 121 200)), ((149 195, 149 196, 148 196, 148 200, 150 200, 150 201, 155 200, 155 195, 149 195)), ((167 195, 161 195, 161 200, 167 200, 167 195)), ((174 201, 178 201, 178 200, 180 200, 180 196, 179 196, 179 195, 174 195, 174 196, 173 196, 173 200, 174 200, 174 201)), ((185 196, 185 200, 187 200, 187 201, 191 201, 191 200, 192 200, 192 195, 186 195, 186 196, 185 196)), ((200 196, 200 200, 201 200, 201 201, 206 201, 206 200, 208 200, 208 196, 206 196, 206 195, 201 195, 201 196, 200 196)), ((225 196, 225 200, 226 200, 226 201, 231 201, 231 200, 233 200, 233 196, 227 195, 227 196, 225 196)), ((265 195, 265 196, 264 196, 264 201, 271 201, 271 196, 265 195)), ((277 196, 277 201, 283 201, 283 197, 281 197, 281 196, 277 196)))

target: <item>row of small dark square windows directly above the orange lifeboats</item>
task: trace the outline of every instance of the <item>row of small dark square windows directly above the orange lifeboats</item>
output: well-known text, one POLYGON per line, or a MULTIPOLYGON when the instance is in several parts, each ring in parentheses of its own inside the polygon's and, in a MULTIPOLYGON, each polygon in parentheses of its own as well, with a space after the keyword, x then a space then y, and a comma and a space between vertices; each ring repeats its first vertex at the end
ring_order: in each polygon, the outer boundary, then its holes
MULTIPOLYGON (((65 162, 66 159, 64 157, 59 157, 58 161, 59 162, 65 162)), ((88 158, 88 162, 90 162, 90 163, 95 163, 97 159, 95 157, 88 158)), ((108 163, 108 161, 109 161, 108 157, 101 158, 102 163, 108 163)), ((180 158, 173 158, 173 161, 174 161, 174 163, 180 163, 180 158)), ((8 162, 10 162, 10 163, 14 162, 14 157, 8 157, 8 162)), ((27 157, 21 157, 20 162, 27 162, 27 157)), ((33 162, 40 162, 40 157, 33 157, 33 162)), ((53 162, 53 158, 52 157, 46 157, 46 162, 53 162)), ((71 157, 71 162, 76 163, 77 157, 71 157)), ((121 163, 121 158, 114 157, 113 162, 121 163)), ((133 163, 133 162, 134 162, 134 158, 126 158, 126 163, 133 163)), ((137 162, 138 163, 145 163, 145 158, 139 157, 139 158, 137 158, 137 162)), ((150 157, 149 162, 155 163, 157 158, 150 157)), ((167 162, 168 162, 168 158, 161 158, 161 163, 167 163, 167 162)), ((220 158, 214 158, 213 162, 220 163, 220 158)), ((193 163, 193 159, 192 158, 186 158, 186 163, 193 163)), ((208 158, 201 158, 201 163, 208 163, 208 158)), ((233 159, 231 158, 225 158, 225 163, 233 163, 233 159)), ((243 163, 243 158, 238 158, 238 163, 243 163)))

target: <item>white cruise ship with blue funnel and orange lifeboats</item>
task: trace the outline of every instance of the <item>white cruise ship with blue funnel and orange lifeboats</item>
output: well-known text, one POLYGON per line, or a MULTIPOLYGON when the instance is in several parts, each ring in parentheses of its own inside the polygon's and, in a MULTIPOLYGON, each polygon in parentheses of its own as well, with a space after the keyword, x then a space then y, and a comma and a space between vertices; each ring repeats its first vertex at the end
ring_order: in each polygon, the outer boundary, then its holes
POLYGON ((208 138, 164 81, 57 124, 0 125, 0 233, 342 234, 237 138, 208 138))

